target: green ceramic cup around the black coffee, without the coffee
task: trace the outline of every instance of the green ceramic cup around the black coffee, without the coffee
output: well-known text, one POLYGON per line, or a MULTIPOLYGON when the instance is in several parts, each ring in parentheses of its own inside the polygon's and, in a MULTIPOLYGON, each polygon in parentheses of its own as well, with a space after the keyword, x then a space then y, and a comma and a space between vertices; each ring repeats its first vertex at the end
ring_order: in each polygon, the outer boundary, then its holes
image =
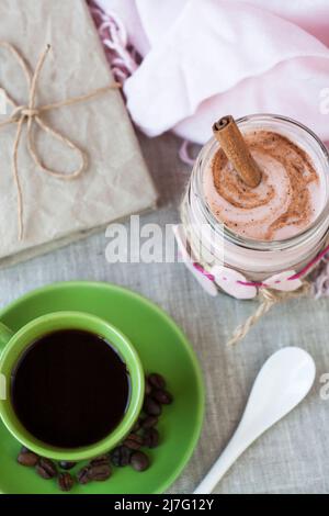
POLYGON ((100 456, 118 445, 138 418, 144 399, 144 372, 140 360, 127 337, 99 317, 79 312, 56 312, 35 318, 16 333, 0 323, 0 378, 2 384, 5 383, 2 396, 4 399, 0 400, 0 417, 8 430, 22 445, 42 457, 80 461, 100 456), (129 373, 131 396, 123 419, 105 438, 81 448, 61 449, 36 439, 23 427, 11 403, 11 375, 22 354, 42 336, 60 329, 81 329, 103 337, 121 356, 129 373))

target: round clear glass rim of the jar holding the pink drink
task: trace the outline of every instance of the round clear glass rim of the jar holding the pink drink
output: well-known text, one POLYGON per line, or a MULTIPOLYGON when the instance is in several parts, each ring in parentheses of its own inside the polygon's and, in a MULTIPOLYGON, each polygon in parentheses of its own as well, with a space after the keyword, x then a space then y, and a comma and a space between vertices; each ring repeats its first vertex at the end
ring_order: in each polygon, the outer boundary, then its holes
MULTIPOLYGON (((327 198, 329 194, 329 153, 325 144, 321 142, 321 139, 314 133, 310 128, 308 128, 306 125, 302 124, 300 122, 297 122, 294 119, 291 119, 288 116, 284 115, 279 115, 279 114, 273 114, 273 113, 256 113, 256 114, 249 114, 246 116, 241 116, 236 120, 236 123, 243 124, 249 121, 254 121, 254 122, 271 122, 275 121, 276 122, 282 122, 286 123, 290 125, 293 125, 295 127, 298 127, 304 132, 310 139, 315 141, 316 144, 319 147, 319 152, 321 153, 321 157, 325 161, 325 177, 326 177, 326 189, 327 189, 327 198)), ((214 145, 218 145, 217 141, 213 136, 203 147, 201 150, 200 155, 197 156, 196 162, 195 162, 195 180, 197 182, 197 190, 200 192, 203 192, 203 186, 202 186, 202 162, 204 159, 207 158, 208 154, 213 150, 214 145), (200 188, 201 187, 201 188, 200 188)), ((201 210, 203 212, 203 215, 205 216, 206 221, 211 223, 212 227, 214 231, 217 231, 224 236, 228 242, 235 245, 239 245, 240 247, 246 247, 248 249, 253 249, 253 250, 263 250, 263 251, 273 251, 277 249, 286 249, 292 246, 298 246, 298 244, 303 244, 305 239, 307 239, 308 236, 313 235, 315 231, 318 228, 322 228, 324 225, 329 226, 329 201, 327 199, 327 202, 324 205, 324 209, 320 211, 320 213, 317 215, 317 217, 313 221, 313 223, 307 226, 304 231, 297 233, 296 235, 284 238, 284 239, 275 239, 275 240, 262 240, 262 239, 256 239, 256 238, 249 238, 249 237, 243 237, 241 235, 238 235, 230 228, 226 227, 224 224, 220 224, 219 221, 215 217, 213 214, 211 207, 208 206, 204 195, 200 195, 198 200, 201 200, 201 210)))

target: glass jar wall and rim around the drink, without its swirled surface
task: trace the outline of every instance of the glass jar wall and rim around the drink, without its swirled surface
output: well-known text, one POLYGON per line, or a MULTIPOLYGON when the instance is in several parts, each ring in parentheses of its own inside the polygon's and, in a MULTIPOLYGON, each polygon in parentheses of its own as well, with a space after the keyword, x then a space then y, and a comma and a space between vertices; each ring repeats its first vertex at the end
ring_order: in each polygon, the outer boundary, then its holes
POLYGON ((310 157, 322 186, 322 206, 316 220, 293 237, 268 242, 246 238, 225 227, 212 213, 204 192, 203 177, 219 148, 213 137, 201 150, 181 206, 186 247, 193 259, 209 272, 225 266, 241 272, 249 281, 259 282, 277 273, 300 271, 328 242, 329 227, 329 155, 321 141, 306 126, 273 114, 254 114, 237 121, 241 132, 265 130, 280 133, 302 147, 310 157))

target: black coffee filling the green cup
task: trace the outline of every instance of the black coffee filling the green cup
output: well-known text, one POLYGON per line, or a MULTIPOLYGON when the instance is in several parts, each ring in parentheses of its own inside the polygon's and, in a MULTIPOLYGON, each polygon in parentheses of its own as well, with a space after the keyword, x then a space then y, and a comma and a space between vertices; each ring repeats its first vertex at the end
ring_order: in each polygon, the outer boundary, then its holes
POLYGON ((34 437, 77 448, 101 440, 118 425, 129 400, 129 378, 103 338, 66 329, 27 348, 12 374, 11 399, 34 437))

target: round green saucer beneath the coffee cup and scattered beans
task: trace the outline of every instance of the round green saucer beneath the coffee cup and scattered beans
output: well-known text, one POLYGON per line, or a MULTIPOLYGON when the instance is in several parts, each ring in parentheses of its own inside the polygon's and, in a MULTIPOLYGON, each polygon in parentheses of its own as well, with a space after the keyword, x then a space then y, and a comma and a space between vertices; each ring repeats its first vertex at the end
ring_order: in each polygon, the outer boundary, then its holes
MULTIPOLYGON (((114 468, 107 481, 77 484, 71 493, 163 493, 192 456, 202 428, 204 389, 190 343, 158 306, 107 283, 67 282, 35 290, 2 310, 0 321, 19 329, 39 315, 65 310, 94 314, 115 325, 134 344, 145 371, 162 373, 174 396, 174 403, 163 408, 158 426, 161 442, 148 451, 151 465, 147 471, 114 468)), ((19 442, 0 423, 0 492, 60 493, 56 481, 43 480, 33 469, 16 463, 19 450, 19 442)))

